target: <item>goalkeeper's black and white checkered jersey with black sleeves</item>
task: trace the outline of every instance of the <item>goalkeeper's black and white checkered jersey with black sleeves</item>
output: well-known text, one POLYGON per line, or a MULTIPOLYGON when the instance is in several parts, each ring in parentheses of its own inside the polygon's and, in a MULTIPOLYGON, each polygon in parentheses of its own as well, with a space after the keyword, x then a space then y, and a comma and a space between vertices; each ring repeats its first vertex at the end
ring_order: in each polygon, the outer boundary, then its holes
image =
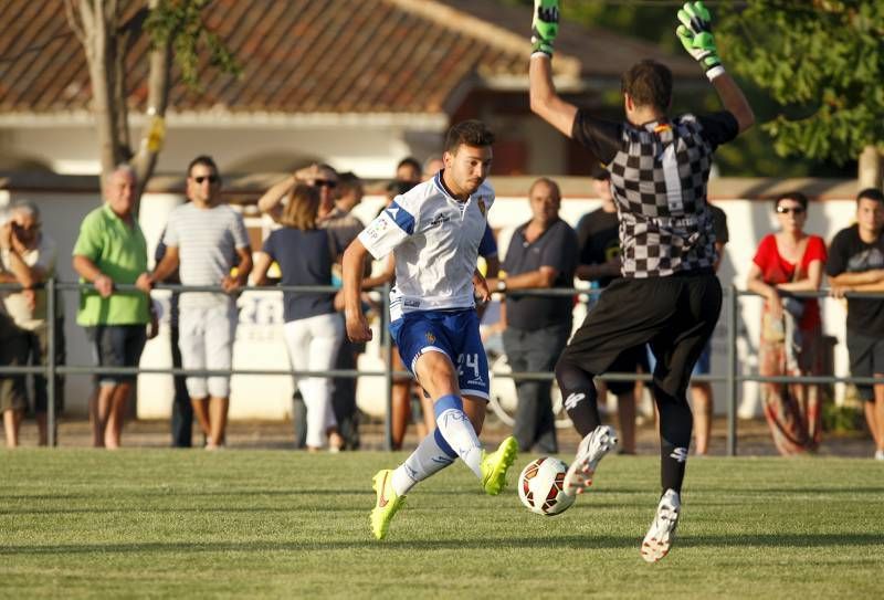
POLYGON ((713 267, 715 233, 706 182, 713 152, 738 133, 727 112, 635 126, 578 110, 572 137, 611 172, 624 277, 713 267))

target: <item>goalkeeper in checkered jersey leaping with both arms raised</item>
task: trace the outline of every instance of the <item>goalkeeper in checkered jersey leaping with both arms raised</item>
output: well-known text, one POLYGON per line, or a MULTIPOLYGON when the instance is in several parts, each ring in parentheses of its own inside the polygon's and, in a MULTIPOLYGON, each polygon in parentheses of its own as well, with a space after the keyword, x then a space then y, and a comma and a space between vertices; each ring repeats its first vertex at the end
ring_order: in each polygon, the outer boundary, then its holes
POLYGON ((657 357, 652 389, 660 411, 662 495, 641 554, 654 562, 669 552, 681 513, 693 425, 685 393, 691 371, 722 307, 706 204, 713 152, 749 128, 755 117, 722 64, 702 2, 678 11, 676 34, 724 105, 711 115, 667 116, 672 73, 651 60, 622 76, 624 122, 603 120, 567 103, 551 77, 558 18, 558 0, 535 0, 532 110, 607 165, 622 260, 622 277, 604 290, 556 365, 565 407, 583 435, 566 491, 582 492, 617 444, 614 431, 600 424, 593 376, 608 370, 621 351, 650 343, 657 357))

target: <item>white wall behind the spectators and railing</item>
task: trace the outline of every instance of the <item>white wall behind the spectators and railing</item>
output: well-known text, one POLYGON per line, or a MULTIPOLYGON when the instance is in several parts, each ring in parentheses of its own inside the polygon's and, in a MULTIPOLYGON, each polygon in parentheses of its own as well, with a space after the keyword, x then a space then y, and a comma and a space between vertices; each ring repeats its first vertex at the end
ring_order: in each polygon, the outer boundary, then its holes
MULTIPOLYGON (((60 249, 59 275, 63 281, 75 281, 71 267, 70 252, 78 232, 83 217, 98 203, 97 196, 90 193, 53 193, 11 191, 0 193, 0 209, 6 202, 20 197, 35 200, 43 211, 44 230, 52 235, 60 249)), ((168 212, 181 199, 175 194, 148 194, 143 201, 141 225, 151 249, 159 239, 168 212)), ((368 221, 377 212, 380 198, 367 198, 357 208, 357 214, 368 221)), ((749 200, 722 200, 717 204, 727 213, 730 230, 730 243, 722 264, 719 276, 725 285, 745 287, 745 278, 758 241, 775 227, 775 217, 769 202, 749 200)), ((589 198, 567 198, 562 204, 562 217, 576 224, 583 213, 597 208, 599 202, 589 198)), ((854 203, 851 199, 828 200, 811 204, 807 230, 822 235, 827 241, 841 228, 851 223, 854 203)), ((502 229, 499 245, 502 254, 512 228, 529 218, 527 200, 524 198, 498 198, 490 213, 495 229, 502 229)), ((252 224, 254 221, 249 220, 252 224)), ((161 293, 157 299, 164 303, 161 293)), ((234 348, 235 368, 287 368, 285 346, 282 341, 282 301, 281 294, 273 292, 243 294, 239 301, 241 323, 234 348)), ((69 362, 90 365, 92 358, 82 328, 76 326, 76 293, 64 296, 66 312, 65 333, 67 338, 69 362)), ((844 340, 845 313, 841 304, 832 299, 822 302, 823 320, 827 334, 835 336, 835 372, 848 373, 846 349, 844 340)), ((753 371, 757 367, 755 348, 759 335, 760 299, 748 297, 740 301, 740 341, 739 352, 744 371, 753 371)), ((723 375, 725 369, 726 337, 725 329, 719 327, 714 338, 713 372, 723 375)), ((169 366, 168 330, 161 329, 160 336, 148 343, 143 358, 143 366, 169 366)), ((376 338, 379 336, 376 336, 376 338)), ((377 347, 370 347, 360 361, 362 369, 380 369, 382 362, 377 347)), ((718 398, 724 398, 723 386, 716 387, 718 398)), ((70 377, 66 383, 66 409, 72 414, 85 414, 91 383, 86 377, 70 377)), ((232 381, 231 417, 233 419, 282 419, 290 414, 292 381, 288 377, 243 377, 232 381)), ((171 377, 143 376, 139 380, 138 414, 141 418, 168 418, 172 397, 171 377)), ((360 383, 359 402, 364 410, 379 413, 383 406, 382 380, 364 379, 360 383)), ((716 403, 718 411, 724 410, 723 402, 716 403)), ((747 383, 743 387, 740 414, 744 417, 759 414, 757 386, 747 383)))

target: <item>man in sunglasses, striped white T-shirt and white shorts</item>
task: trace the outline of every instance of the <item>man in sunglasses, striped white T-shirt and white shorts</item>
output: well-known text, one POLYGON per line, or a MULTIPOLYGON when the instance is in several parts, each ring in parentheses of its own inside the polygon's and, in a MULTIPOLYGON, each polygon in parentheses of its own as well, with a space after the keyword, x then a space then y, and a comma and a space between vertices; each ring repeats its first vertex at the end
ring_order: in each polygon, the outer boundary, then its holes
MULTIPOLYGON (((207 285, 218 292, 183 292, 179 298, 179 346, 186 369, 227 370, 232 366, 236 331, 235 293, 252 271, 252 249, 242 215, 221 199, 221 176, 214 160, 198 156, 187 169, 190 202, 169 215, 166 255, 149 276, 165 281, 176 269, 183 285, 207 285), (236 257, 236 274, 231 274, 236 257)), ((193 413, 206 435, 206 449, 224 444, 230 408, 230 376, 192 376, 186 380, 193 413)))

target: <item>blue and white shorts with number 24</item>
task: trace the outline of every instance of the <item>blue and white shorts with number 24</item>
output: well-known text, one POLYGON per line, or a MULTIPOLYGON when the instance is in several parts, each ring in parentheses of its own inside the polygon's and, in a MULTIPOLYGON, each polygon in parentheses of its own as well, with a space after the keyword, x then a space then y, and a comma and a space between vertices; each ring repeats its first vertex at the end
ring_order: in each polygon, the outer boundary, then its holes
POLYGON ((488 399, 488 358, 474 308, 406 313, 390 324, 390 335, 412 375, 422 354, 442 352, 457 369, 461 393, 488 399))

